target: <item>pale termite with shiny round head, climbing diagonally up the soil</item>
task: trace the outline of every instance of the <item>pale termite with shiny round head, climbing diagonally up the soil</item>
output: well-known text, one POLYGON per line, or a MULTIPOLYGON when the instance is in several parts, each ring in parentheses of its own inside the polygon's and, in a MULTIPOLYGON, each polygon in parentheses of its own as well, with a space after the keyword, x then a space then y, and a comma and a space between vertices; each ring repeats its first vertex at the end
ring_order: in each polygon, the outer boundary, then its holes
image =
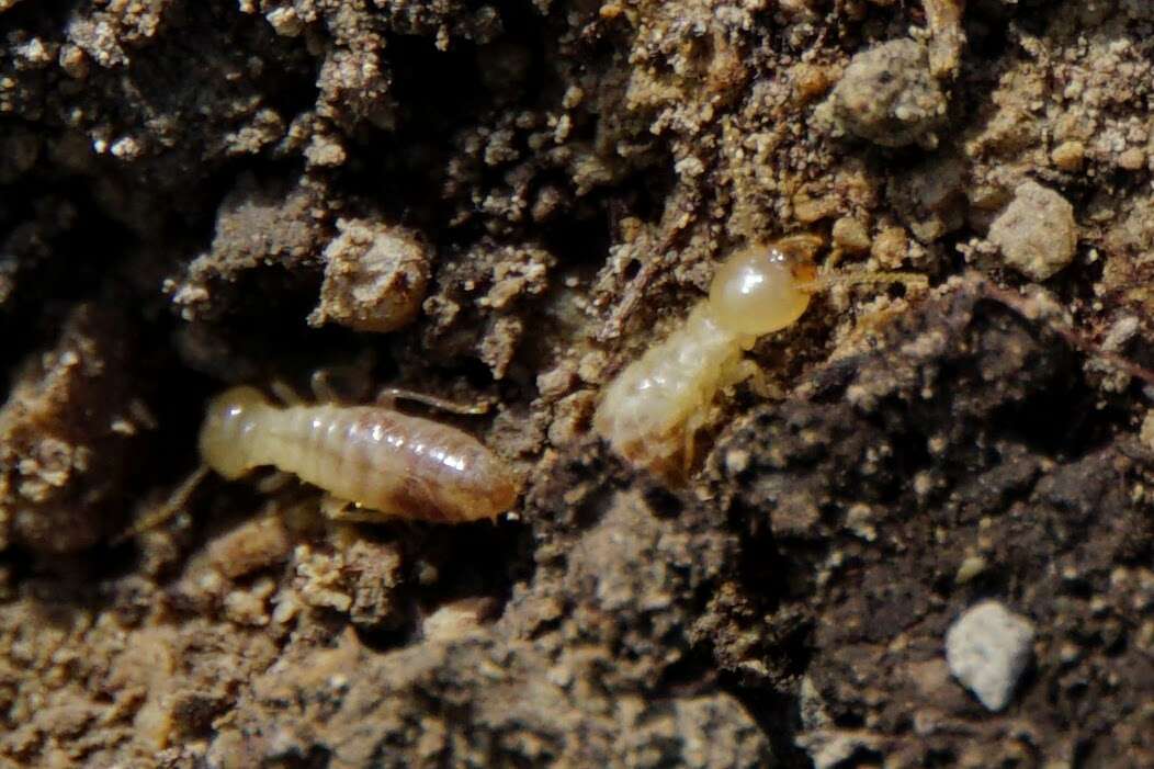
POLYGON ((758 371, 745 351, 796 322, 814 293, 848 283, 928 284, 908 272, 818 275, 814 256, 822 244, 817 236, 790 236, 726 260, 685 322, 608 384, 594 430, 631 463, 681 478, 718 390, 758 371))

